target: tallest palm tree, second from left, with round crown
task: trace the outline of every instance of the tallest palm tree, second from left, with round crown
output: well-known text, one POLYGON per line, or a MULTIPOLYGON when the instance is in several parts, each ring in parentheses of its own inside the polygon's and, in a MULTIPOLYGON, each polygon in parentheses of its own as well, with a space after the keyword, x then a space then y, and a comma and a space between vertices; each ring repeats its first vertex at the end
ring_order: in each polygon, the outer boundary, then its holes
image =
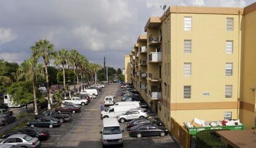
POLYGON ((47 84, 47 101, 48 101, 48 109, 51 109, 51 102, 49 99, 49 78, 48 78, 48 65, 49 60, 52 59, 54 56, 54 45, 51 44, 46 39, 40 39, 37 41, 34 46, 31 48, 32 55, 35 59, 39 59, 43 57, 43 61, 45 63, 45 77, 46 77, 46 84, 47 84))

